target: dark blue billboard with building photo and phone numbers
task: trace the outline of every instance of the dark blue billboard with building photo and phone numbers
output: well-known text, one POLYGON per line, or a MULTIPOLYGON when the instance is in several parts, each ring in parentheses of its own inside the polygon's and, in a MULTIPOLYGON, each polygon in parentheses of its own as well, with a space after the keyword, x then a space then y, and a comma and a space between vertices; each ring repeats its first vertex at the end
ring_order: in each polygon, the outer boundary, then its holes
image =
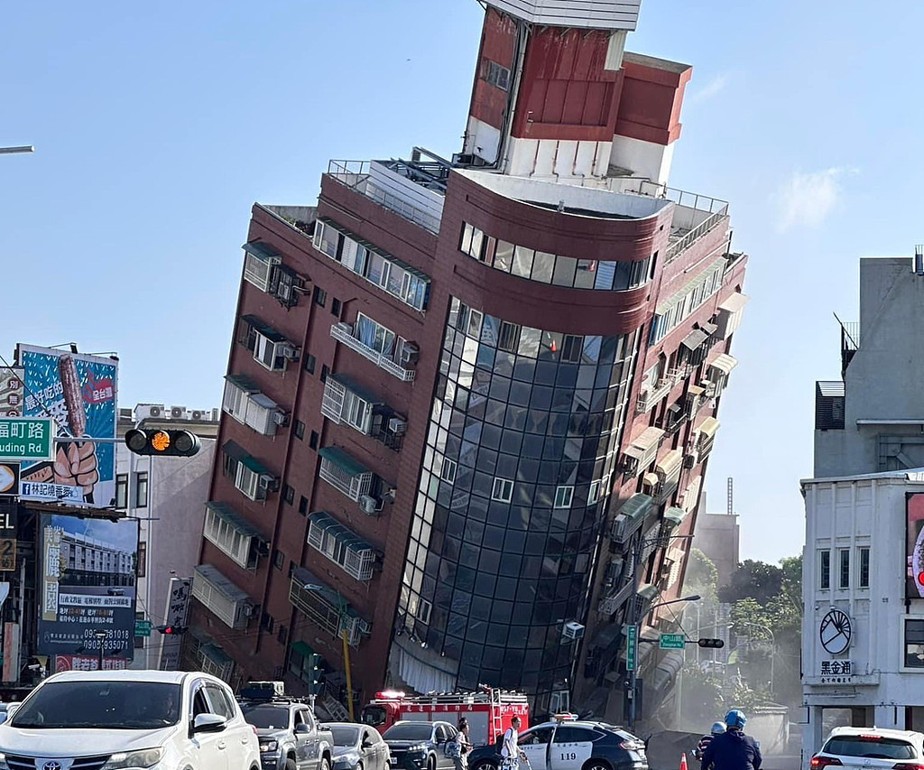
POLYGON ((39 653, 131 660, 137 568, 137 519, 43 514, 39 653))

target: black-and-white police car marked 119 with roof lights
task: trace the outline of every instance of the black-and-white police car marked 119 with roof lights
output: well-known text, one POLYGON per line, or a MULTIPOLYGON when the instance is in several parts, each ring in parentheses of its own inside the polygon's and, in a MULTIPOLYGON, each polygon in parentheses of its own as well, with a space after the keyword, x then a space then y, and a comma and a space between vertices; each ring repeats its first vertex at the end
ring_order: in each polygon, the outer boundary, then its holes
MULTIPOLYGON (((578 721, 561 715, 519 734, 519 748, 529 761, 520 770, 648 770, 645 744, 621 727, 578 721)), ((469 770, 497 770, 501 741, 468 754, 469 770)))

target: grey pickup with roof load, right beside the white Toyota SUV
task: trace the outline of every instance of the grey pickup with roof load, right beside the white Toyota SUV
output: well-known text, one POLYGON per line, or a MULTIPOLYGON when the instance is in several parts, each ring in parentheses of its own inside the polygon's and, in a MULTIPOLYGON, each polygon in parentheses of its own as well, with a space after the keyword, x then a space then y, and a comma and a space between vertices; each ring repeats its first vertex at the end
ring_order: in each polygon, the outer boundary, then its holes
POLYGON ((281 696, 241 708, 260 739, 263 770, 331 770, 333 737, 318 725, 308 703, 281 696))

